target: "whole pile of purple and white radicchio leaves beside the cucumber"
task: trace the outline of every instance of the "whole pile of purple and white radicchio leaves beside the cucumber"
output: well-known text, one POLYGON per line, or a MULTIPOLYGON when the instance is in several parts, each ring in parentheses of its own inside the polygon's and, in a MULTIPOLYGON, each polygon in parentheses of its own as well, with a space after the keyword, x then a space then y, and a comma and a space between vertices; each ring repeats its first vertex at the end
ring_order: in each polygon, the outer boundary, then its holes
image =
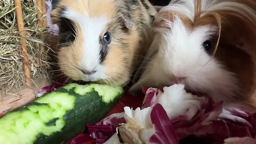
MULTIPOLYGON (((256 143, 256 114, 223 109, 222 102, 187 93, 180 84, 163 91, 144 87, 143 92, 141 108, 124 107, 123 113, 87 125, 90 137, 97 143, 175 144, 195 135, 213 143, 256 143)), ((73 143, 82 144, 86 139, 80 137, 73 143)))

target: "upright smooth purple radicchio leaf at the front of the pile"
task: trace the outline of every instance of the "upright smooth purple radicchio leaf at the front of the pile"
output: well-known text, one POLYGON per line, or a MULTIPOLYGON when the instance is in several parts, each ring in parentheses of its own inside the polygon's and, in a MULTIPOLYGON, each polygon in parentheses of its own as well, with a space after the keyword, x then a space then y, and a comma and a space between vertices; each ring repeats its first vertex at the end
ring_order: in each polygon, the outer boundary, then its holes
POLYGON ((155 134, 150 137, 149 142, 178 144, 179 141, 175 135, 172 123, 164 110, 163 106, 157 103, 151 113, 150 118, 155 127, 155 134))

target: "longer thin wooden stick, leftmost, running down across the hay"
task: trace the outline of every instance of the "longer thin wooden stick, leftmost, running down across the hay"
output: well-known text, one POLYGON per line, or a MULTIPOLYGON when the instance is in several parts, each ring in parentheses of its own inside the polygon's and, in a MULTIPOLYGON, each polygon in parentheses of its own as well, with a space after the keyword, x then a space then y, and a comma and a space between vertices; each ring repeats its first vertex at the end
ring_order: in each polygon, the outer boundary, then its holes
POLYGON ((16 15, 17 15, 17 23, 18 29, 20 33, 20 43, 23 55, 23 71, 25 73, 25 82, 31 86, 31 77, 30 77, 30 69, 29 69, 29 60, 28 60, 28 49, 27 49, 27 41, 25 39, 25 28, 24 28, 24 21, 22 17, 22 7, 21 7, 21 0, 14 0, 16 8, 16 15))

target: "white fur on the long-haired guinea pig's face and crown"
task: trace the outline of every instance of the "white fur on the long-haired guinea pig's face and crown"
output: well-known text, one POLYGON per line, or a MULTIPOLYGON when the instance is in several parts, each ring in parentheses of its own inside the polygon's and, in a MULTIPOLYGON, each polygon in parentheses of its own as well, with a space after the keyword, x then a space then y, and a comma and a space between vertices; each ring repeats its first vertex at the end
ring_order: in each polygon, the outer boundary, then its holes
MULTIPOLYGON (((246 13, 253 12, 243 4, 235 2, 202 1, 203 10, 236 9, 246 13)), ((194 0, 172 1, 161 11, 178 11, 194 20, 194 0)), ((163 20, 161 15, 156 22, 163 20)), ((139 81, 130 91, 141 89, 142 85, 163 87, 174 83, 174 78, 184 78, 179 81, 186 89, 208 93, 214 100, 225 100, 239 92, 235 75, 222 66, 221 61, 211 57, 203 49, 203 42, 218 33, 215 26, 207 25, 188 30, 179 18, 168 22, 169 29, 158 28, 155 41, 148 53, 157 51, 155 55, 146 55, 147 62, 139 81)))

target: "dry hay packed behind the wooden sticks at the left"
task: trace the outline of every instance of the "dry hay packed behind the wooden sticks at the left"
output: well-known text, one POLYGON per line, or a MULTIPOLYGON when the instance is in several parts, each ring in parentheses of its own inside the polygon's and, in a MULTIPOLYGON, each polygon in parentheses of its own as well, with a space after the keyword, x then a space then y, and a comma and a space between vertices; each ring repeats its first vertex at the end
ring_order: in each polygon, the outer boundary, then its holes
MULTIPOLYGON (((36 0, 22 0, 21 2, 31 79, 48 78, 47 51, 41 52, 39 48, 39 44, 44 44, 40 37, 47 34, 47 27, 37 27, 36 0)), ((14 1, 0 0, 0 92, 20 89, 25 83, 20 36, 15 15, 14 1)))

